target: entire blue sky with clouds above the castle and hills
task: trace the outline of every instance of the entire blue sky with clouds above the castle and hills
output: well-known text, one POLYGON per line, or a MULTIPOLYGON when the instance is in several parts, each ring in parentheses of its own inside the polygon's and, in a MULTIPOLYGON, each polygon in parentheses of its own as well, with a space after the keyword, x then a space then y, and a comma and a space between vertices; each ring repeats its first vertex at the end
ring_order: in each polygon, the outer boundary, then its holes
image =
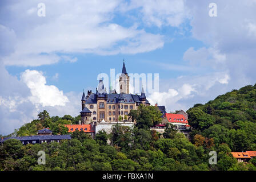
POLYGON ((95 92, 123 59, 129 73, 159 73, 159 92, 146 96, 167 111, 255 84, 255 9, 255 0, 0 1, 0 134, 44 109, 78 115, 83 89, 95 92))

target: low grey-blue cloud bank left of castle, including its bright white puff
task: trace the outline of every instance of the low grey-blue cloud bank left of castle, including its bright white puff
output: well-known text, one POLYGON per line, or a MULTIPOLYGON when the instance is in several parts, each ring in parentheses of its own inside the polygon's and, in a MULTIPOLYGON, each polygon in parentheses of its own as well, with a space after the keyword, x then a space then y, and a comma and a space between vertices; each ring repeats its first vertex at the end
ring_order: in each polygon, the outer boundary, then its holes
POLYGON ((35 70, 23 72, 21 80, 18 80, 0 64, 0 88, 2 135, 10 134, 14 129, 37 119, 38 113, 43 110, 47 110, 51 116, 60 117, 65 114, 75 117, 81 111, 82 93, 63 94, 56 86, 46 85, 45 76, 35 70))

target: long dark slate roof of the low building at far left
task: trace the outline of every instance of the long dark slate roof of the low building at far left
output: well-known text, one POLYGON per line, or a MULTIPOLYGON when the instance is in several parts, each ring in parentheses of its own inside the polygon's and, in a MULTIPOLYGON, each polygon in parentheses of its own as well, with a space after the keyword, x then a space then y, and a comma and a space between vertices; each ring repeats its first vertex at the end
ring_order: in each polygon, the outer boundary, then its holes
POLYGON ((71 135, 34 135, 34 136, 26 136, 26 137, 7 137, 3 138, 1 142, 5 142, 7 139, 17 139, 20 141, 26 140, 63 140, 63 139, 71 139, 71 135))

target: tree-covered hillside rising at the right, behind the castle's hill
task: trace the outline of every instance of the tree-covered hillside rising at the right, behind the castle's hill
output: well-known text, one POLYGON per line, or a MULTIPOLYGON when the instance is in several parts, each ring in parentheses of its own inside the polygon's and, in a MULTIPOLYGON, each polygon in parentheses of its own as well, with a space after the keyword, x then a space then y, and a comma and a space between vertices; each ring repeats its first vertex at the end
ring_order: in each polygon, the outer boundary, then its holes
POLYGON ((256 84, 196 104, 187 113, 194 142, 199 134, 213 138, 216 147, 226 143, 232 151, 256 150, 256 84))

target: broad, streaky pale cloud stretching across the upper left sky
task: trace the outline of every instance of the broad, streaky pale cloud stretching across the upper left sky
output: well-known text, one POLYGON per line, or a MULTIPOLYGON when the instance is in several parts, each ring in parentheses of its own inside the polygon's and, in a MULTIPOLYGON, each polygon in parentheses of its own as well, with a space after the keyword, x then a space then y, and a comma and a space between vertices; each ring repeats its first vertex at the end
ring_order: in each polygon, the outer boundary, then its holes
POLYGON ((5 26, 11 27, 17 36, 13 53, 0 57, 5 65, 39 66, 61 59, 77 61, 76 57, 58 56, 58 53, 134 54, 163 47, 161 35, 111 22, 118 1, 44 3, 46 16, 43 18, 37 16, 37 3, 31 1, 10 2, 9 6, 2 7, 9 18, 5 26))

